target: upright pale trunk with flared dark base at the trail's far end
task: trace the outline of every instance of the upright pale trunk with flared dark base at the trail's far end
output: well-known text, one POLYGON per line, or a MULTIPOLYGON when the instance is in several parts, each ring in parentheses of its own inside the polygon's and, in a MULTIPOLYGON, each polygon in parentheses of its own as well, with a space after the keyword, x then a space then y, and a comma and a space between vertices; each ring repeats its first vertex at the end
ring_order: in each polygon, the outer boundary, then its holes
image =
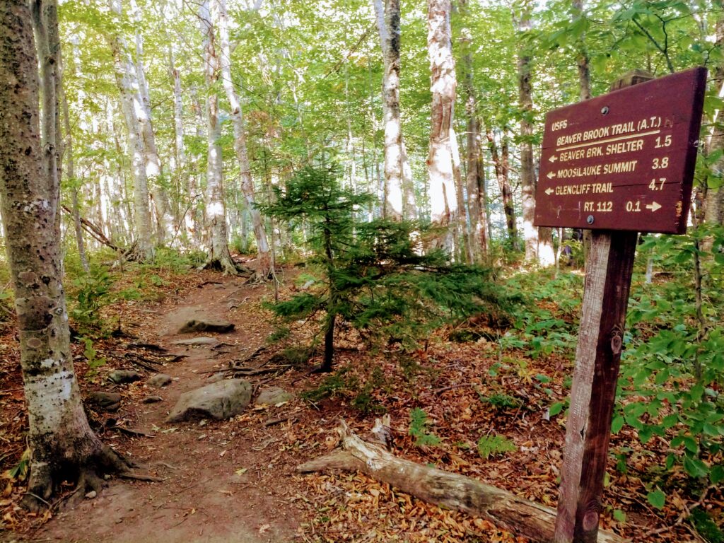
POLYGON ((211 22, 209 0, 199 8, 203 33, 203 67, 206 73, 206 130, 209 137, 209 155, 206 165, 206 229, 209 236, 207 267, 219 267, 224 274, 236 275, 239 270, 229 253, 224 183, 222 176, 222 146, 219 140, 222 128, 219 124, 219 96, 214 85, 219 79, 219 53, 216 50, 214 25, 211 22))

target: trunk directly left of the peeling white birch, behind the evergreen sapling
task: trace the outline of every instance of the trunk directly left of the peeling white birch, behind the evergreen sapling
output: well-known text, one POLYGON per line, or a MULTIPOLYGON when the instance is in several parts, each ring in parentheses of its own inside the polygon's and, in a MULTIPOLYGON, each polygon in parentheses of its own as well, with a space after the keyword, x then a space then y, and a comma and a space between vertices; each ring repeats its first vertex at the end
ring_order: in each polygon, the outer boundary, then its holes
POLYGON ((382 46, 382 116, 384 119, 385 216, 415 219, 417 208, 412 171, 400 118, 400 0, 374 0, 382 46))

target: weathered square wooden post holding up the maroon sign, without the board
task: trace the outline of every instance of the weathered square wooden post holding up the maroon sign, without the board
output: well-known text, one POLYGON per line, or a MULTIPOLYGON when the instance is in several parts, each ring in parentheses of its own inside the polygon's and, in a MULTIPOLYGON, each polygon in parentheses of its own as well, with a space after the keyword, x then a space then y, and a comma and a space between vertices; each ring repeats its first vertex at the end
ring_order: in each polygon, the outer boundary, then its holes
MULTIPOLYGON (((612 89, 651 79, 633 70, 612 89)), ((554 543, 595 543, 638 232, 594 231, 586 261, 554 543)))

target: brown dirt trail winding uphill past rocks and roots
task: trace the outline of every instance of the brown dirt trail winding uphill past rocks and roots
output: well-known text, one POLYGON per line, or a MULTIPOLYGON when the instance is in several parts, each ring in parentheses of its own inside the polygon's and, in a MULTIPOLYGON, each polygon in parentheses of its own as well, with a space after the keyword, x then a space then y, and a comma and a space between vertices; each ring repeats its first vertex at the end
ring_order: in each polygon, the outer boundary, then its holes
MULTIPOLYGON (((124 393, 119 421, 153 434, 127 437, 106 432, 106 442, 143 463, 161 483, 120 481, 95 499, 62 505, 34 539, 62 542, 240 542, 292 541, 298 526, 297 463, 288 452, 286 424, 266 427, 261 417, 231 421, 168 424, 165 421, 182 392, 206 384, 209 372, 229 361, 243 360, 261 345, 270 330, 256 306, 268 288, 243 285, 242 279, 214 277, 182 300, 167 300, 139 329, 140 340, 161 345, 169 353, 186 355, 161 371, 174 381, 162 390, 144 382, 121 385, 124 393), (191 318, 227 319, 236 325, 228 334, 177 334, 191 318), (213 335, 222 344, 174 345, 174 340, 213 335), (160 395, 163 402, 144 404, 140 398, 160 395)), ((150 374, 148 374, 150 375, 150 374)), ((287 387, 288 388, 288 387, 287 387)), ((104 390, 108 390, 105 387, 104 390)), ((295 402, 265 411, 268 419, 295 409, 295 402)), ((258 414, 261 408, 251 413, 258 414)), ((303 491, 301 491, 303 492, 303 491)))

